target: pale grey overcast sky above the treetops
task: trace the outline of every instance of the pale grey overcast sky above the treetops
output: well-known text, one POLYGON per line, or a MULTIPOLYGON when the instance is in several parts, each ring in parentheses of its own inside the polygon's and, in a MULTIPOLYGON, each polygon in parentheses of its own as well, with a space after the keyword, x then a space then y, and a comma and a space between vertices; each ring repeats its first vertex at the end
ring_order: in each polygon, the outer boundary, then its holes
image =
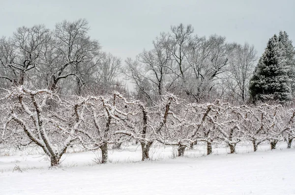
POLYGON ((200 36, 254 44, 261 55, 267 40, 285 30, 295 42, 295 0, 0 0, 0 35, 16 28, 86 18, 89 35, 103 50, 135 57, 171 25, 191 24, 200 36), (12 3, 13 2, 13 3, 12 3))

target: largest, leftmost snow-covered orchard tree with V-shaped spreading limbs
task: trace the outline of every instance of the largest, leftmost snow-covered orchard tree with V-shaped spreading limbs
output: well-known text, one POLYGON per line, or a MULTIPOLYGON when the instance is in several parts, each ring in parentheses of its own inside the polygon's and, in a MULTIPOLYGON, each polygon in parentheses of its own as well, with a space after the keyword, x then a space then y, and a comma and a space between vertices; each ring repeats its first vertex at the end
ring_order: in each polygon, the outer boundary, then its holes
MULTIPOLYGON (((51 166, 59 165, 67 147, 77 139, 76 131, 82 120, 71 118, 72 110, 60 103, 59 96, 47 89, 29 90, 23 85, 8 90, 5 99, 12 104, 6 108, 14 126, 23 129, 28 138, 50 157, 51 166), (57 101, 59 108, 50 110, 47 99, 57 101), (15 101, 16 100, 16 101, 15 101)), ((77 110, 74 110, 77 115, 77 110)))

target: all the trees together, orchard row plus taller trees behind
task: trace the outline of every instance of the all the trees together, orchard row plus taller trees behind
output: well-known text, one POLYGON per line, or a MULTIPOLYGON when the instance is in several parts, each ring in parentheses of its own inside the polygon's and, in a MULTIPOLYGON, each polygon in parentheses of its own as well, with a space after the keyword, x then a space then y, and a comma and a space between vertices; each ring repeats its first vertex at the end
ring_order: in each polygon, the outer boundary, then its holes
POLYGON ((235 153, 242 140, 254 151, 264 141, 291 147, 295 50, 286 32, 270 38, 256 62, 253 45, 180 24, 125 63, 88 33, 79 19, 0 39, 0 144, 38 145, 51 166, 73 144, 100 149, 101 163, 109 145, 131 140, 142 160, 155 142, 178 146, 179 156, 197 141, 207 154, 221 142, 235 153))

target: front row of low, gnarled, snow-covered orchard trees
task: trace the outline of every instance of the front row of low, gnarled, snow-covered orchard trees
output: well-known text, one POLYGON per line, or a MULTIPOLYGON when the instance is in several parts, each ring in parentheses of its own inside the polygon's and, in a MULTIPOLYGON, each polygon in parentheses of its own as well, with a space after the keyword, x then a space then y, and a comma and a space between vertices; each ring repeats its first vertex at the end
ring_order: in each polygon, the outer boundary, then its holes
POLYGON ((1 95, 0 143, 24 146, 36 144, 59 165, 60 157, 73 145, 101 150, 101 163, 108 159, 108 146, 136 140, 142 160, 155 142, 178 146, 178 156, 197 141, 226 143, 230 153, 243 140, 258 145, 268 141, 275 149, 295 138, 295 110, 281 105, 235 106, 229 103, 188 103, 173 94, 161 96, 152 107, 140 100, 113 95, 67 96, 48 89, 30 90, 23 85, 1 95), (50 102, 50 104, 48 104, 50 102))

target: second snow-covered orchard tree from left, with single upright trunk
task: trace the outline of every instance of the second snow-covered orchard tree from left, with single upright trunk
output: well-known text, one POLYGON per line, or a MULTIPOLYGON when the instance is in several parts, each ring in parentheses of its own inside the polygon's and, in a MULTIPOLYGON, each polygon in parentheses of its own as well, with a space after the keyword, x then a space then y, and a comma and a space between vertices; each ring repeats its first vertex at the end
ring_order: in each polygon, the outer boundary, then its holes
MULTIPOLYGON (((83 128, 77 131, 80 142, 87 150, 101 149, 101 163, 105 164, 108 161, 108 144, 116 143, 115 129, 120 128, 118 114, 123 113, 118 110, 117 96, 118 92, 114 93, 113 97, 104 96, 88 96, 86 98, 78 97, 80 100, 75 100, 76 107, 85 106, 84 112, 85 121, 83 128)), ((128 113, 127 113, 128 115, 128 113)))

